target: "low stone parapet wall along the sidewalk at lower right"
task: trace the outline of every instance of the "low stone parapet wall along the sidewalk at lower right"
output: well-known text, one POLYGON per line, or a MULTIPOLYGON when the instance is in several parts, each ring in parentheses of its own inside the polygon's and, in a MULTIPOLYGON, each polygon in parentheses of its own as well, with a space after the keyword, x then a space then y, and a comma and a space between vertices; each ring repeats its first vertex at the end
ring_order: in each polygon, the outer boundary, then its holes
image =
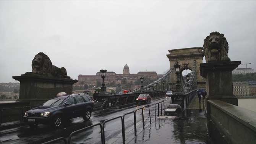
MULTIPOLYGON (((220 100, 207 100, 207 116, 225 134, 228 143, 256 143, 256 112, 220 100)), ((208 126, 208 130, 211 136, 213 129, 208 126)))

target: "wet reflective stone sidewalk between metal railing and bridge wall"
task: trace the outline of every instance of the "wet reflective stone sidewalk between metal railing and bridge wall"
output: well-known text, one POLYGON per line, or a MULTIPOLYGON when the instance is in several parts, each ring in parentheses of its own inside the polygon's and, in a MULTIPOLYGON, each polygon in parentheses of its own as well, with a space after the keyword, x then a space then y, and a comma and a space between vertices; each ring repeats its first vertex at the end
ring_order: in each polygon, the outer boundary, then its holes
MULTIPOLYGON (((201 99, 202 100, 202 99, 201 99)), ((128 144, 216 144, 208 135, 203 101, 194 97, 186 116, 152 119, 128 144)))

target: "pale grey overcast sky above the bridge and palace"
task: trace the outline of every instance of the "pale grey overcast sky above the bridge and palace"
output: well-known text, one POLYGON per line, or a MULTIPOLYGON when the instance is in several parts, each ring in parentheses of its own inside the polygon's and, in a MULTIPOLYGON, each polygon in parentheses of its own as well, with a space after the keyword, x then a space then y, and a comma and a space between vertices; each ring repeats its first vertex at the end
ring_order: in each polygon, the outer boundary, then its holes
MULTIPOLYGON (((223 33, 228 57, 256 71, 256 1, 0 1, 0 83, 32 71, 44 52, 71 78, 100 69, 169 68, 168 50, 202 47, 223 33)), ((240 67, 245 67, 242 65, 240 67)))

